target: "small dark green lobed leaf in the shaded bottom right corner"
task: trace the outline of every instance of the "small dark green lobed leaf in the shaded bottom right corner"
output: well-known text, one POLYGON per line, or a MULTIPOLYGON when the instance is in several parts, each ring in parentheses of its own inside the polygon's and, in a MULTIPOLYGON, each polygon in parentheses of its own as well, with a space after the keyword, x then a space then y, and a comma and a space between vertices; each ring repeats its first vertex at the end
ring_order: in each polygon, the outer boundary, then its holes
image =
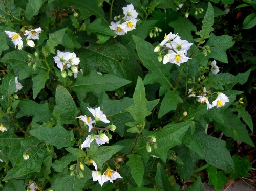
POLYGON ((240 160, 238 155, 233 155, 232 159, 234 161, 235 173, 232 173, 230 177, 233 179, 238 179, 238 176, 240 175, 246 178, 249 175, 249 171, 251 171, 252 167, 252 164, 249 162, 249 159, 244 156, 240 160))

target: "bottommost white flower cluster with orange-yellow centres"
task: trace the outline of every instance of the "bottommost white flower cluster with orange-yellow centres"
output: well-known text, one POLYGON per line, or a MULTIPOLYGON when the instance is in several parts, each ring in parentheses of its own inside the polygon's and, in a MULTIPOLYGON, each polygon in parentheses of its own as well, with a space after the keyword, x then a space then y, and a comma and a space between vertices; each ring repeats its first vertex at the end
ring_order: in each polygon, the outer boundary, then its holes
POLYGON ((104 184, 104 182, 110 181, 113 183, 113 180, 116 180, 117 178, 122 178, 118 172, 113 171, 110 168, 108 168, 103 173, 103 175, 101 175, 100 171, 92 171, 92 177, 93 181, 98 181, 101 186, 104 184))

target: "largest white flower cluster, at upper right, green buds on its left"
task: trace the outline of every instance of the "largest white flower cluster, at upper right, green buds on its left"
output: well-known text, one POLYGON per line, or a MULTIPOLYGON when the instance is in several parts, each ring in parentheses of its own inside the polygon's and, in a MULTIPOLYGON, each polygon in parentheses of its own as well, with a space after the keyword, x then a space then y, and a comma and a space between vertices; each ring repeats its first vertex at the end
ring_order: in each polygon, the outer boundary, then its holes
POLYGON ((155 48, 154 52, 159 52, 159 62, 163 60, 163 64, 170 62, 180 66, 180 64, 191 59, 186 57, 186 55, 192 44, 186 40, 182 40, 178 34, 169 33, 164 36, 164 40, 155 48), (167 54, 163 53, 166 49, 168 50, 167 54), (165 54, 164 57, 163 54, 165 54))

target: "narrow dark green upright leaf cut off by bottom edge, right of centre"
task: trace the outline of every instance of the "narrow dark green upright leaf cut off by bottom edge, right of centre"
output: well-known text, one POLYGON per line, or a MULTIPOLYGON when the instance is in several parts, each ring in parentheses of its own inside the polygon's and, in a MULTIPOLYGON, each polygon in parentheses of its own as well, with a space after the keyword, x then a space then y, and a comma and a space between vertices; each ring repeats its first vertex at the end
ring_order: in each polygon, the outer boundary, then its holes
POLYGON ((157 173, 155 176, 156 187, 158 190, 172 190, 170 186, 169 178, 166 175, 163 166, 160 163, 157 163, 157 173))

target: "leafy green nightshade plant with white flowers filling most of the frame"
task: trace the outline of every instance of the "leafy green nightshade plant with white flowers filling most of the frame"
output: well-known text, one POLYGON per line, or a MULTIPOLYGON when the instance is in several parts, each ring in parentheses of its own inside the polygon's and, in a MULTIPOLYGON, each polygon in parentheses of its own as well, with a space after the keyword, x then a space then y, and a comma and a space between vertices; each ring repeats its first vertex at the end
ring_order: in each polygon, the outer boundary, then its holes
POLYGON ((1 187, 200 190, 193 172, 207 166, 237 177, 221 137, 254 147, 234 89, 250 70, 223 72, 234 42, 214 34, 215 13, 190 1, 1 1, 1 187))

